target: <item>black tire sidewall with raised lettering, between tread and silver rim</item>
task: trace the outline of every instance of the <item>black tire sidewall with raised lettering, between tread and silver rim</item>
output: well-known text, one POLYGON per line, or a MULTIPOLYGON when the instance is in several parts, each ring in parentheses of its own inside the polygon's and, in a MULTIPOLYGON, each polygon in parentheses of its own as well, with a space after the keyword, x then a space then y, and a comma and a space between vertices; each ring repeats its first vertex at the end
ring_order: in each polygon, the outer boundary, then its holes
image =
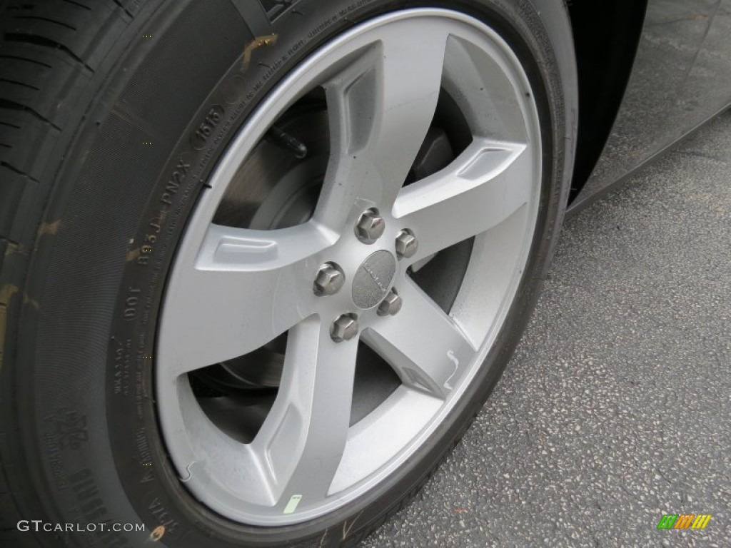
MULTIPOLYGON (((151 27, 164 31, 170 25, 165 18, 181 11, 160 14, 151 27)), ((115 98, 150 55, 149 46, 135 47, 127 54, 121 64, 127 68, 110 78, 104 100, 80 128, 75 149, 59 173, 59 191, 50 202, 46 221, 60 220, 61 229, 37 244, 28 292, 39 296, 39 307, 24 310, 20 324, 18 356, 23 376, 19 376, 18 399, 23 446, 34 485, 45 493, 48 514, 58 522, 110 520, 146 526, 145 533, 78 533, 76 540, 81 543, 135 547, 155 530, 159 544, 181 548, 276 547, 295 539, 303 546, 355 544, 409 500, 461 437, 510 359, 539 294, 567 197, 567 129, 563 83, 550 47, 552 39, 560 37, 548 36, 529 2, 301 0, 274 22, 273 34, 276 43, 250 50, 249 63, 242 52, 205 102, 189 113, 190 123, 166 151, 167 160, 154 184, 136 191, 134 199, 107 203, 105 227, 99 227, 99 212, 90 213, 83 202, 88 190, 84 194, 78 188, 77 178, 88 160, 83 145, 99 140, 115 98), (539 103, 544 148, 544 181, 529 265, 495 349, 474 383, 429 443, 385 484, 306 524, 265 530, 237 525, 203 508, 182 487, 159 433, 152 364, 164 280, 216 160, 268 91, 328 39, 363 20, 404 7, 459 9, 485 20, 528 67, 539 103), (135 229, 129 231, 130 226, 135 229), (93 246, 86 262, 61 251, 88 246, 84 235, 92 235, 97 246, 118 249, 124 244, 124 252, 102 264, 93 246), (69 307, 64 293, 86 297, 69 307), (69 326, 63 348, 50 343, 56 340, 50 333, 61 324, 69 326), (97 386, 95 378, 103 378, 102 384, 97 386)), ((128 149, 105 153, 107 161, 121 166, 135 161, 135 152, 128 149)), ((93 192, 103 197, 113 194, 118 181, 94 180, 94 184, 93 192)))

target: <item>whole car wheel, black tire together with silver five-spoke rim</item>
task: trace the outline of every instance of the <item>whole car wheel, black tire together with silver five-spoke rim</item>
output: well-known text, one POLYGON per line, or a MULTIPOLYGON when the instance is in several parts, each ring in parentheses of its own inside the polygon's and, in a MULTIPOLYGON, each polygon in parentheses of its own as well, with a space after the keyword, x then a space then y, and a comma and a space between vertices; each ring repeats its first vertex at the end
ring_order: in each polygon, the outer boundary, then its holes
POLYGON ((561 225, 539 4, 6 3, 5 534, 350 546, 409 501, 561 225))

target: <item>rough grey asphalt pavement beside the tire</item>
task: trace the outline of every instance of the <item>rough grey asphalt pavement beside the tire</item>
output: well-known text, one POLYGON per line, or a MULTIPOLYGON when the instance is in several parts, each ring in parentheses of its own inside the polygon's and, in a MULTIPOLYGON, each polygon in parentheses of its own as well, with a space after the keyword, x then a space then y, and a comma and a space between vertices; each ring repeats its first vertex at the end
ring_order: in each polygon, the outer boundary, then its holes
POLYGON ((474 426, 363 546, 731 547, 731 113, 567 221, 474 426))

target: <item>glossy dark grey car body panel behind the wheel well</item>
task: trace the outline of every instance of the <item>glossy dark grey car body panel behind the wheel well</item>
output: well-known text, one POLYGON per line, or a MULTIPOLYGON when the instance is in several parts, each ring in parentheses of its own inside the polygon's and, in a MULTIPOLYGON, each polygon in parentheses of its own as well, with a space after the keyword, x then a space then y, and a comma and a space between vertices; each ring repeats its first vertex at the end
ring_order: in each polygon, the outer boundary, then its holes
POLYGON ((731 104, 731 0, 651 0, 635 64, 579 210, 731 104))

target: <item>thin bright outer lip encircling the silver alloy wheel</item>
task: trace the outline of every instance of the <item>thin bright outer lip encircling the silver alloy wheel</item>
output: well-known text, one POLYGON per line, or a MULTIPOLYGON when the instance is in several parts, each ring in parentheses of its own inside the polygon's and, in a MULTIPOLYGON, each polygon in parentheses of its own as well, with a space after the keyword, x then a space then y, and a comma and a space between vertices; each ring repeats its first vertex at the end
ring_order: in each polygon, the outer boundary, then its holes
MULTIPOLYGON (((510 46, 507 45, 507 42, 502 39, 502 37, 497 34, 496 31, 493 31, 492 28, 485 25, 485 23, 480 22, 480 20, 477 20, 475 18, 470 17, 469 15, 462 14, 460 12, 453 12, 448 9, 408 9, 408 10, 402 10, 400 12, 395 12, 389 15, 384 15, 379 18, 374 18, 373 20, 369 20, 366 23, 363 23, 362 25, 358 26, 357 28, 352 29, 351 31, 341 35, 340 37, 336 37, 333 39, 332 42, 325 45, 324 47, 321 47, 319 50, 316 50, 310 58, 308 58, 307 61, 305 61, 303 64, 301 64, 298 68, 295 69, 295 71, 289 75, 282 83, 280 83, 268 96, 265 101, 260 105, 260 107, 257 108, 257 110, 254 111, 254 114, 251 116, 248 123, 246 123, 245 126, 240 130, 240 133, 237 137, 235 137, 235 140, 232 142, 228 150, 224 153, 224 156, 222 157, 221 161, 219 162, 219 166, 216 167, 216 170, 213 172, 213 175, 211 176, 211 183, 215 180, 231 180, 233 178, 233 175, 238 170, 238 167, 240 167, 241 162, 243 159, 246 158, 246 156, 249 154, 249 151, 251 151, 251 148, 256 145, 257 142, 263 137, 266 128, 276 120, 276 118, 283 112, 289 104, 291 104, 297 96, 306 88, 310 87, 312 83, 317 81, 319 77, 322 76, 322 74, 317 74, 314 77, 310 75, 310 72, 313 68, 313 66, 317 66, 322 58, 326 58, 327 56, 330 56, 331 53, 336 50, 339 45, 341 45, 342 42, 345 42, 348 39, 352 39, 353 37, 357 37, 360 34, 366 33, 368 31, 371 31, 372 29, 380 26, 384 23, 393 23, 398 20, 404 20, 407 18, 414 18, 414 17, 440 17, 440 18, 447 18, 452 19, 461 23, 467 23, 469 26, 472 26, 474 28, 477 28, 477 30, 481 31, 482 34, 485 34, 491 42, 504 45, 503 54, 510 58, 510 61, 512 62, 513 69, 516 69, 515 73, 512 74, 512 77, 518 77, 520 80, 520 83, 522 83, 524 86, 526 86, 527 89, 531 89, 532 86, 530 85, 530 81, 528 76, 525 73, 525 70, 523 69, 523 66, 520 64, 520 60, 518 59, 518 56, 515 55, 515 53, 510 49, 510 46), (305 81, 305 85, 298 85, 301 81, 305 81), (282 91, 281 94, 278 94, 277 91, 282 91), (277 106, 279 105, 279 106, 277 106), (276 114, 272 114, 276 113, 276 114)), ((530 205, 530 215, 529 215, 529 227, 526 227, 527 230, 527 241, 524 242, 524 252, 520 256, 519 264, 522 265, 520 270, 516 275, 513 276, 513 280, 510 282, 510 298, 507 298, 508 295, 506 295, 505 302, 508 304, 512 303, 515 300, 515 292, 517 292, 518 286, 520 285, 520 280, 522 278, 522 273, 525 265, 527 264, 529 260, 529 250, 532 246, 532 240, 534 237, 534 229, 535 224, 537 221, 537 215, 538 215, 538 199, 540 194, 540 182, 542 181, 542 161, 541 161, 541 147, 542 142, 540 139, 540 126, 539 126, 539 114, 537 111, 537 106, 535 104, 535 101, 531 94, 530 100, 525 100, 523 97, 520 97, 520 107, 523 113, 526 112, 530 113, 529 121, 526 121, 526 125, 532 125, 531 128, 526 128, 526 131, 529 132, 531 137, 534 137, 534 140, 532 140, 531 145, 533 146, 533 156, 534 159, 537 161, 534 161, 534 165, 536 166, 536 180, 538 182, 538 186, 536 189, 534 189, 534 193, 532 196, 532 202, 530 205)), ((227 184, 212 184, 212 188, 209 189, 205 196, 200 199, 197 208, 194 210, 193 216, 189 222, 189 227, 192 227, 194 225, 200 226, 201 224, 205 227, 207 227, 209 224, 211 224, 211 221, 213 219, 213 215, 216 211, 216 208, 218 207, 221 198, 223 197, 224 192, 227 189, 227 184)), ((390 215, 388 215, 388 218, 391 218, 390 215)), ((205 234, 205 230, 201 231, 202 234, 205 234)), ((200 239, 197 239, 197 237, 190 237, 190 232, 188 229, 186 229, 185 234, 183 234, 183 238, 181 239, 181 247, 178 249, 180 251, 183 246, 192 246, 194 245, 194 248, 200 248, 200 243, 202 240, 202 235, 200 236, 200 239), (189 241, 192 240, 192 241, 189 241), (196 241, 197 240, 197 241, 196 241)), ((175 268, 175 262, 173 262, 173 267, 170 270, 170 275, 173 275, 173 271, 175 268)), ((393 285, 393 283, 392 283, 393 285)), ((396 471, 398 468, 400 468, 402 465, 404 465, 404 461, 406 460, 409 455, 414 454, 414 452, 417 452, 417 450, 425 444, 426 441, 428 441, 428 438, 433 435, 434 431, 439 427, 439 425, 442 425, 444 422, 444 419, 447 417, 448 414, 455 408, 455 406, 458 405, 458 403, 461 401, 461 397, 463 396, 464 392, 466 392, 466 389, 469 387, 470 381, 474 378, 474 376, 477 375, 477 372, 481 368, 482 362, 485 361, 485 358, 488 355, 489 350, 491 349, 491 344, 493 340, 498 335, 498 332, 502 325, 504 324, 504 320, 507 316, 507 313, 510 309, 509 305, 502 305, 501 306, 501 312, 499 319, 496 319, 496 321, 493 322, 493 326, 496 327, 493 332, 488 334, 488 336, 485 337, 485 342, 482 344, 482 347, 480 351, 477 353, 477 356, 473 360, 473 365, 470 366, 469 370, 467 371, 465 377, 463 378, 463 381, 461 381, 460 386, 458 389, 455 390, 455 392, 452 392, 452 395, 450 395, 450 403, 444 403, 442 405, 442 408, 434 414, 431 419, 428 422, 428 427, 425 427, 422 429, 422 431, 417 435, 415 438, 413 438, 407 446, 404 447, 404 449, 399 452, 398 457, 391 460, 386 465, 379 468, 379 471, 375 474, 372 474, 371 476, 367 476, 362 481, 357 482, 357 484, 354 487, 354 493, 349 495, 347 498, 345 497, 338 497, 338 501, 335 503, 330 502, 323 506, 321 511, 318 511, 317 513, 314 512, 308 512, 303 514, 298 514, 296 516, 290 517, 288 520, 251 520, 247 519, 245 521, 246 525, 294 525, 300 522, 305 522, 307 520, 311 520, 315 517, 320 517, 323 514, 327 514, 330 511, 333 511, 335 509, 340 508, 341 506, 344 506, 346 503, 349 503, 355 498, 359 497, 360 495, 363 495, 368 490, 373 489, 377 485, 379 485, 382 481, 387 479, 388 476, 390 476, 394 471, 396 471)), ((162 306, 162 314, 161 316, 161 324, 162 319, 164 318, 164 298, 163 298, 163 306, 162 306)), ((160 330, 158 331, 159 334, 160 330)), ((157 340, 159 351, 156 353, 156 355, 161 356, 164 352, 162 351, 162 346, 159 345, 159 335, 157 340)), ((160 390, 160 373, 158 370, 156 370, 156 390, 158 391, 158 400, 162 401, 162 395, 164 392, 170 392, 168 389, 163 390, 162 392, 159 392, 160 390)), ((182 380, 182 378, 179 378, 178 380, 182 380)), ((168 387, 169 388, 169 387, 168 387)), ((161 425, 161 432, 163 434, 165 444, 170 448, 170 437, 169 433, 166 434, 166 430, 170 430, 170 408, 169 406, 167 409, 162 411, 163 406, 158 406, 158 411, 160 415, 160 425, 161 425)), ((184 421, 183 421, 184 422, 184 421)), ((181 422, 178 422, 178 425, 180 425, 181 422)), ((184 443, 184 442, 183 442, 184 443)), ((179 444, 178 444, 179 445, 179 444)), ((190 446, 187 448, 189 451, 191 450, 190 446)), ((200 498, 204 503, 206 503, 208 506, 210 506, 213 510, 218 511, 219 513, 223 514, 226 517, 230 517, 230 519, 233 520, 240 520, 240 514, 230 515, 226 511, 221 511, 221 508, 216 508, 214 506, 211 506, 210 503, 208 503, 208 499, 210 499, 207 496, 207 489, 205 485, 201 488, 200 486, 197 486, 193 483, 188 482, 187 480, 192 479, 192 470, 191 465, 181 465, 184 463, 184 460, 176 459, 175 454, 173 454, 172 451, 170 451, 170 457, 173 460, 173 463, 175 464, 176 468, 178 468, 178 471, 181 472, 181 481, 185 482, 187 487, 194 493, 194 495, 197 495, 197 498, 200 498), (186 473, 189 473, 189 476, 185 476, 186 473)), ((195 463, 196 461, 193 461, 195 463)), ((243 520, 242 520, 243 521, 243 520)))

